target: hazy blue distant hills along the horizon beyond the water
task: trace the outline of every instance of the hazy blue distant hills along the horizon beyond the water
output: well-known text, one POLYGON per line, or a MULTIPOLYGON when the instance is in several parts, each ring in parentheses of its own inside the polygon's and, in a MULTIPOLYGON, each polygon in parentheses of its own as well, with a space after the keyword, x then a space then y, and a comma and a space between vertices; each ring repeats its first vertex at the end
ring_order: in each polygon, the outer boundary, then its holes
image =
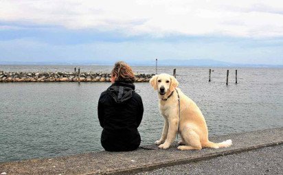
MULTIPOLYGON (((155 66, 155 59, 152 60, 125 60, 129 65, 134 66, 155 66)), ((113 65, 113 60, 93 60, 81 62, 1 62, 0 65, 113 65)), ((262 64, 238 64, 218 60, 191 59, 191 60, 158 60, 158 66, 183 66, 183 67, 280 67, 283 65, 262 65, 262 64)))

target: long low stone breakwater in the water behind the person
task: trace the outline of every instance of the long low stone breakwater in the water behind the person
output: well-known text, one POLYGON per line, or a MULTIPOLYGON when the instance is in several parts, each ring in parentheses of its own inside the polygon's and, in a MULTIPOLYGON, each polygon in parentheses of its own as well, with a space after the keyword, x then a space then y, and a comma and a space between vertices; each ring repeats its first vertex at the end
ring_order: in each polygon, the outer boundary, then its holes
MULTIPOLYGON (((135 73, 135 82, 149 82, 152 75, 135 73)), ((110 78, 111 73, 0 71, 0 82, 110 82, 110 78)))

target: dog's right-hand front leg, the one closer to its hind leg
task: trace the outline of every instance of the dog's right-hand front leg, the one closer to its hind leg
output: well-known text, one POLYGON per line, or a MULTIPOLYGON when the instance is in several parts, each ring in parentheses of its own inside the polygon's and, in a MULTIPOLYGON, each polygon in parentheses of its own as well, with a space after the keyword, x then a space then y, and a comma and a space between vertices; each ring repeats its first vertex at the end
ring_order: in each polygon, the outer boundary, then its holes
POLYGON ((171 121, 168 121, 169 128, 168 128, 168 134, 166 141, 159 145, 158 148, 161 149, 167 149, 170 147, 170 145, 173 143, 174 139, 176 138, 177 130, 178 130, 178 119, 172 119, 171 121))

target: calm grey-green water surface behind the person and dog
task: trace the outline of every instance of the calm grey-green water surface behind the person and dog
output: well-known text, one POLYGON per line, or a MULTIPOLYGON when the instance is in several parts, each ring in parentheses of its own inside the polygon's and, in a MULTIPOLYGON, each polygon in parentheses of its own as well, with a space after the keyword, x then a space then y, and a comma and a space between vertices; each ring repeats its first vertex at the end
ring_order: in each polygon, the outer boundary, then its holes
MULTIPOLYGON (((112 67, 82 66, 82 71, 109 72, 112 67)), ((174 67, 159 67, 170 73, 174 67)), ((155 73, 155 67, 133 67, 155 73)), ((283 126, 283 69, 177 67, 179 87, 199 108, 210 137, 283 126), (238 84, 234 83, 238 69, 238 84)), ((73 71, 73 66, 0 65, 4 71, 73 71)), ((103 150, 97 106, 109 82, 0 83, 0 162, 63 156, 103 150)), ((159 139, 163 118, 157 92, 136 83, 144 102, 139 126, 141 144, 159 139)))

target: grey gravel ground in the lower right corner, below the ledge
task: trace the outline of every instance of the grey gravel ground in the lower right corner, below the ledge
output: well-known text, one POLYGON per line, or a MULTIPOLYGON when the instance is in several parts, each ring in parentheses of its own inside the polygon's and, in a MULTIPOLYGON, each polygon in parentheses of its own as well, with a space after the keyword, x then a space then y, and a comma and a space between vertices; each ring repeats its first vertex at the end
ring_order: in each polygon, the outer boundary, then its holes
POLYGON ((283 174, 283 144, 138 174, 283 174))

